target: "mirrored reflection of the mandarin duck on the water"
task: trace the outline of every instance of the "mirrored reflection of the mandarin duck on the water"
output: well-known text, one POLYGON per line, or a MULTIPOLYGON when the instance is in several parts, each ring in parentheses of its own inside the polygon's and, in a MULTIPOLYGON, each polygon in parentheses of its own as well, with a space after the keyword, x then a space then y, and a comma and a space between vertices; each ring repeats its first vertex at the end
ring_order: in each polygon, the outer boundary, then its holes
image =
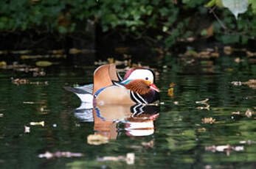
POLYGON ((94 121, 95 134, 112 140, 123 133, 131 137, 153 134, 153 121, 159 115, 159 107, 156 105, 103 105, 83 109, 85 106, 88 105, 82 103, 75 109, 75 116, 80 121, 94 121))

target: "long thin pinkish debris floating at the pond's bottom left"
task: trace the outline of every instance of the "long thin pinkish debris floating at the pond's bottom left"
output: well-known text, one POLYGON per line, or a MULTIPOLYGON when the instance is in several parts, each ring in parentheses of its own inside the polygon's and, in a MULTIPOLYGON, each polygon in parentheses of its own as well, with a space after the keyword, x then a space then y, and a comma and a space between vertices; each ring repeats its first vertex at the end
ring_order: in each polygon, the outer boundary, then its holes
POLYGON ((39 158, 46 158, 46 159, 51 159, 53 157, 83 157, 83 154, 81 153, 72 153, 69 151, 57 151, 55 153, 51 153, 49 151, 46 151, 44 154, 39 154, 39 158))

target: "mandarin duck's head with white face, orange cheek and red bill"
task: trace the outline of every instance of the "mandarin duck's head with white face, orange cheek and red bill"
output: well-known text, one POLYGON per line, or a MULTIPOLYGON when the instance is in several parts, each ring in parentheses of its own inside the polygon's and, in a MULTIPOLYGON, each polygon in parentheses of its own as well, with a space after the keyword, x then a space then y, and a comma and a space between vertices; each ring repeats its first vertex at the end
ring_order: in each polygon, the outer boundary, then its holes
POLYGON ((151 90, 159 93, 159 89, 154 84, 155 74, 149 68, 133 68, 125 74, 122 83, 129 90, 145 95, 151 90))

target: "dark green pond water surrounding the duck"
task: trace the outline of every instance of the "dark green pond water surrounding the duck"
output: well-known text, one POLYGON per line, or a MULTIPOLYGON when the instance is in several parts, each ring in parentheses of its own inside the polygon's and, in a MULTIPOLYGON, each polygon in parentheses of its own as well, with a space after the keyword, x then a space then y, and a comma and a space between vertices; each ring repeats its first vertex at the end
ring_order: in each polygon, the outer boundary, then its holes
POLYGON ((156 79, 162 91, 161 104, 156 110, 159 117, 149 122, 148 128, 144 126, 142 133, 130 131, 130 134, 128 121, 97 127, 102 123, 85 122, 75 114, 80 100, 63 90, 63 86, 92 82, 96 66, 52 65, 44 68, 46 76, 36 77, 32 72, 2 69, 0 166, 256 168, 255 88, 231 84, 256 79, 256 65, 249 63, 246 57, 239 63, 234 59, 220 57, 190 64, 173 58, 151 65, 159 71, 156 79), (13 84, 10 77, 28 79, 29 84, 13 84), (174 93, 168 96, 172 82, 176 83, 174 93), (196 104, 206 98, 209 98, 207 104, 196 104), (209 109, 205 109, 207 105, 209 109), (240 112, 240 115, 232 112, 240 112), (213 123, 203 121, 204 118, 212 118, 210 122, 213 123), (30 124, 40 121, 44 121, 44 126, 30 124), (30 132, 25 132, 24 126, 30 127, 30 132), (88 143, 89 135, 104 133, 111 138, 107 143, 88 143), (134 136, 136 134, 144 136, 134 136), (81 153, 83 157, 38 157, 46 151, 52 154, 69 151, 81 153), (135 156, 131 164, 123 160, 128 153, 135 156), (103 159, 118 156, 122 159, 103 159))

